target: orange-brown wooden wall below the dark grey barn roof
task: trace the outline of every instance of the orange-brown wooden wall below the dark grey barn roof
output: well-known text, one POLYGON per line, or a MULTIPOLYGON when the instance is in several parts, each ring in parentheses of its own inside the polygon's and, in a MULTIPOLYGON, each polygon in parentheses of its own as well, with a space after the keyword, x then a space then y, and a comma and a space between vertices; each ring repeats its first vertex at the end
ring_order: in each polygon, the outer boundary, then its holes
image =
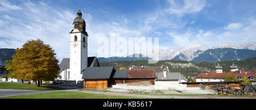
POLYGON ((108 79, 84 79, 84 88, 106 89, 108 79))

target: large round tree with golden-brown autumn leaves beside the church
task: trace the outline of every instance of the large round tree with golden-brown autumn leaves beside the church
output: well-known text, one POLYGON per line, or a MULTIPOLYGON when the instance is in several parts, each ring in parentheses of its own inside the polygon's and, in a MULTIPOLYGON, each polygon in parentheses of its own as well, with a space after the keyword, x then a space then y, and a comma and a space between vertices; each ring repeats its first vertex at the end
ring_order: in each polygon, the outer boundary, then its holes
POLYGON ((16 49, 13 60, 6 61, 8 77, 28 81, 53 81, 60 73, 59 62, 51 46, 42 40, 27 41, 22 48, 16 49))

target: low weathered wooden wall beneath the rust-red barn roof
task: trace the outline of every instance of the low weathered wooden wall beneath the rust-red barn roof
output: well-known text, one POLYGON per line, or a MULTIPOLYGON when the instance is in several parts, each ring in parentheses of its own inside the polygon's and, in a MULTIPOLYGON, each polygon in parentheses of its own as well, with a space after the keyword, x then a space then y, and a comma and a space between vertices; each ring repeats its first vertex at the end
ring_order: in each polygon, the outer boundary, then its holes
POLYGON ((130 86, 152 86, 155 79, 112 79, 110 84, 127 84, 130 86))

